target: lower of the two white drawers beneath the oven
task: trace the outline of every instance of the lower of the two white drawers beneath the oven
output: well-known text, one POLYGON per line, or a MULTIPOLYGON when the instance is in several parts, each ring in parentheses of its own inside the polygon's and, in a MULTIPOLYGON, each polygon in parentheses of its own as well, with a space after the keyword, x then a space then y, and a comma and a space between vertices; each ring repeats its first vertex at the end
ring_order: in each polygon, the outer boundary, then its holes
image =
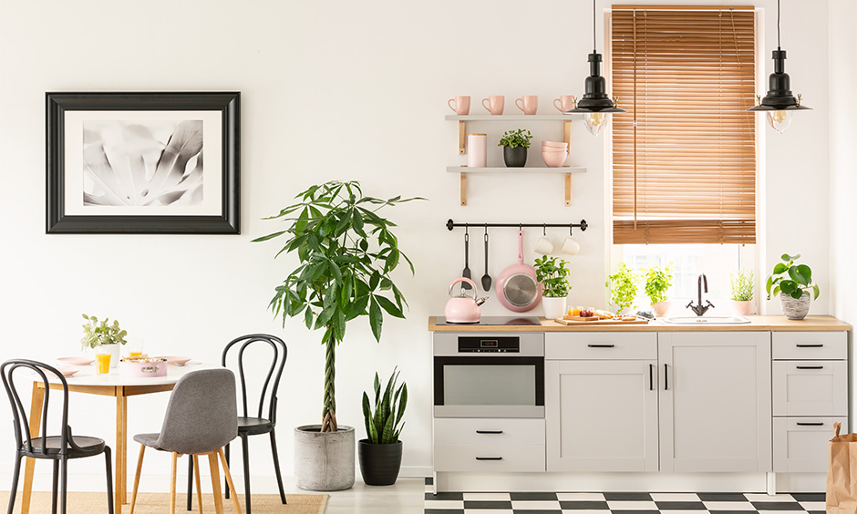
POLYGON ((544 445, 435 445, 435 471, 544 471, 544 445))

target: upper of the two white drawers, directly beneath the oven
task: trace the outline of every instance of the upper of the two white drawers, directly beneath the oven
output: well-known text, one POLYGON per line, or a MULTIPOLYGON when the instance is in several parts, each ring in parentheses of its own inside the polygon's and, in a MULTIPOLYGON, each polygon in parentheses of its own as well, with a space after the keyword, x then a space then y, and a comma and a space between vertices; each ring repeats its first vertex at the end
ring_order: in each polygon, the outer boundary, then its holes
POLYGON ((543 445, 544 419, 435 419, 435 445, 543 445))

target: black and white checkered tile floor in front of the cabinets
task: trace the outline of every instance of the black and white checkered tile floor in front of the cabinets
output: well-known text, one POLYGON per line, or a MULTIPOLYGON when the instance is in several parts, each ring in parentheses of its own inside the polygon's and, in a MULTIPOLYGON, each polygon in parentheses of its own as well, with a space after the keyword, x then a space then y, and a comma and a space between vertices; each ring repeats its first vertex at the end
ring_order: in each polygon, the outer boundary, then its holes
POLYGON ((824 514, 824 493, 528 493, 431 494, 425 514, 824 514))

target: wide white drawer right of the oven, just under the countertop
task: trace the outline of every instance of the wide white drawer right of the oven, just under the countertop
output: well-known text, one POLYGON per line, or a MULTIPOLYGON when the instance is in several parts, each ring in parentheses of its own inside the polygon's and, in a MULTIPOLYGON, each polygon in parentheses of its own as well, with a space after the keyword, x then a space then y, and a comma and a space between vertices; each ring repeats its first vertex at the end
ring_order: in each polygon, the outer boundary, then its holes
POLYGON ((657 358, 657 333, 567 332, 544 334, 545 359, 657 358))

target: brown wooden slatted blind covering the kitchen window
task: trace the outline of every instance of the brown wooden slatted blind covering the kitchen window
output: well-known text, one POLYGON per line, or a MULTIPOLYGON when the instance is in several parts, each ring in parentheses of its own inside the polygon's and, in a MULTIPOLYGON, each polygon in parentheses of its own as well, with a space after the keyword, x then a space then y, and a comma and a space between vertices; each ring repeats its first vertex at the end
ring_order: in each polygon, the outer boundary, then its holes
POLYGON ((615 244, 756 242, 752 6, 614 5, 615 244))

